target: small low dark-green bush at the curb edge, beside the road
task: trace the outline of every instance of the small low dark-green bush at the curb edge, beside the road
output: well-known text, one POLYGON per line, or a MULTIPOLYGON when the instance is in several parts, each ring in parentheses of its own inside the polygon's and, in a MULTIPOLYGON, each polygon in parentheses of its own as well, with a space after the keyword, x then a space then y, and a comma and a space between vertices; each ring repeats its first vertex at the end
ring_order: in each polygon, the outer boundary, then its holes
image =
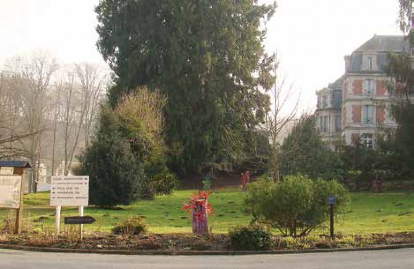
POLYGON ((242 226, 229 231, 234 250, 268 250, 272 247, 272 234, 262 226, 242 226))

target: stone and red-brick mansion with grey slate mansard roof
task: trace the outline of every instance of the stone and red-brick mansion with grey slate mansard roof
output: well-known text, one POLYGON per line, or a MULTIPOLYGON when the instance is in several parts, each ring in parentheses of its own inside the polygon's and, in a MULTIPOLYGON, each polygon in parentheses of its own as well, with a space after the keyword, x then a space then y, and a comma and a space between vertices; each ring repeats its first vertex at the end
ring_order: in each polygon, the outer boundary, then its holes
POLYGON ((351 144, 354 139, 372 148, 381 127, 396 127, 388 109, 391 96, 384 65, 387 52, 404 51, 409 51, 405 36, 375 35, 344 57, 342 77, 316 91, 316 127, 332 150, 338 149, 339 142, 351 144))

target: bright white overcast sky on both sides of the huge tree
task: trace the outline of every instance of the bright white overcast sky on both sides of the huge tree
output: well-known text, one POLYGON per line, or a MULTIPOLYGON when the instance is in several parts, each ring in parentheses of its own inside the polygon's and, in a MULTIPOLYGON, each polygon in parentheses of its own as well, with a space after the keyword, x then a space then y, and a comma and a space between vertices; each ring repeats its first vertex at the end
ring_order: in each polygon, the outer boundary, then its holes
MULTIPOLYGON (((103 63, 95 45, 98 2, 0 0, 0 64, 35 49, 49 50, 63 62, 103 63)), ((313 109, 315 90, 343 74, 344 55, 374 34, 401 34, 395 22, 397 4, 397 0, 278 1, 266 48, 277 50, 284 72, 301 91, 303 109, 313 109)))

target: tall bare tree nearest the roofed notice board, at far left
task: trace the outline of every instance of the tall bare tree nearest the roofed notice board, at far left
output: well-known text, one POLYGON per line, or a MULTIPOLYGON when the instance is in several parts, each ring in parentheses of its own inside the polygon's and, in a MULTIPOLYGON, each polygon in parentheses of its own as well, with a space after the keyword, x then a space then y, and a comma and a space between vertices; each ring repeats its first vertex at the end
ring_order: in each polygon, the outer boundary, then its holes
POLYGON ((47 126, 45 119, 50 112, 51 100, 48 92, 52 76, 57 69, 55 59, 44 52, 38 52, 29 58, 13 58, 6 65, 6 71, 10 76, 8 86, 12 89, 12 99, 19 108, 17 116, 23 119, 22 128, 30 134, 20 140, 32 166, 29 192, 36 191, 42 150, 41 139, 47 126))

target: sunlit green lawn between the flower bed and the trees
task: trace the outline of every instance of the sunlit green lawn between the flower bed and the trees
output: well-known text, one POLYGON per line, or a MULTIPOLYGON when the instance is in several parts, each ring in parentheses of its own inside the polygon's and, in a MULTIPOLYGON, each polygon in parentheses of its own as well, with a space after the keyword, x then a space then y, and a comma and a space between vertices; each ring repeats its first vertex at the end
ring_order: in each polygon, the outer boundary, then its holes
MULTIPOLYGON (((183 212, 182 205, 192 193, 191 190, 180 190, 171 196, 159 196, 154 201, 140 201, 116 210, 88 207, 84 214, 93 216, 97 221, 84 227, 86 231, 110 231, 118 221, 140 215, 144 216, 149 231, 153 233, 190 232, 190 219, 183 212)), ((232 226, 249 223, 251 217, 241 213, 243 195, 244 192, 239 190, 222 190, 210 196, 213 216, 209 218, 209 226, 213 233, 226 233, 232 226)), ((349 209, 336 220, 336 233, 414 231, 414 195, 353 193, 351 197, 349 209)), ((48 205, 48 192, 25 195, 24 204, 24 227, 53 229, 54 208, 48 205)), ((0 220, 6 219, 7 212, 7 209, 0 209, 0 220)), ((75 208, 62 209, 62 217, 76 214, 75 208)), ((62 227, 65 229, 65 225, 62 224, 62 227)), ((328 233, 328 230, 318 232, 328 233)))

